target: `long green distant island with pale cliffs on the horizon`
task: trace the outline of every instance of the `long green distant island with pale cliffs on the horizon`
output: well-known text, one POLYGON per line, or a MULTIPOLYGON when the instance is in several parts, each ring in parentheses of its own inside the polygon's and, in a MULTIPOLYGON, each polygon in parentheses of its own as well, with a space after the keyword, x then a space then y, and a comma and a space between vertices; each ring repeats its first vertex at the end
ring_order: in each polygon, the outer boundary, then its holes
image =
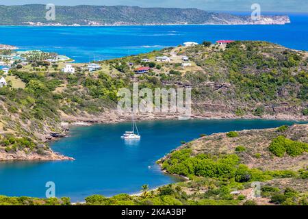
POLYGON ((194 8, 140 8, 131 6, 55 6, 55 20, 45 18, 46 5, 0 5, 0 25, 285 25, 289 16, 251 16, 214 13, 194 8), (16 16, 18 14, 18 16, 16 16))

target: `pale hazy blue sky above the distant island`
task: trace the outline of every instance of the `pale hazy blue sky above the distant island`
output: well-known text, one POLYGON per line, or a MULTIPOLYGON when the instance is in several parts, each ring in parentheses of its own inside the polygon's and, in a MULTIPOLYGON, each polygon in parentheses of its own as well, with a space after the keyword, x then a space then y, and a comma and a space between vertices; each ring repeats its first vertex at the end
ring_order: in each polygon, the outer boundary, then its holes
POLYGON ((54 3, 55 5, 132 5, 144 8, 199 8, 208 11, 251 11, 259 3, 264 12, 305 12, 308 0, 0 0, 0 5, 54 3))

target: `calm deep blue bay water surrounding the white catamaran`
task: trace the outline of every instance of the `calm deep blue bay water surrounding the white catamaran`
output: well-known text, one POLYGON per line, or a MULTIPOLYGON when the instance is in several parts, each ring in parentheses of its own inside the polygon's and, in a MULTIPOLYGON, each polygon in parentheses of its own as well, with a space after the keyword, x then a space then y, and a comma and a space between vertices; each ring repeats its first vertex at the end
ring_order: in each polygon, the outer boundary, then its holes
POLYGON ((170 120, 144 121, 142 139, 125 142, 120 136, 130 123, 74 127, 71 136, 51 144, 54 151, 75 157, 65 162, 1 162, 0 194, 44 197, 45 183, 53 181, 56 196, 83 201, 92 194, 112 196, 136 193, 143 184, 151 188, 179 179, 165 175, 155 161, 181 141, 231 130, 279 127, 293 122, 278 120, 170 120), (149 168, 151 166, 151 168, 149 168))

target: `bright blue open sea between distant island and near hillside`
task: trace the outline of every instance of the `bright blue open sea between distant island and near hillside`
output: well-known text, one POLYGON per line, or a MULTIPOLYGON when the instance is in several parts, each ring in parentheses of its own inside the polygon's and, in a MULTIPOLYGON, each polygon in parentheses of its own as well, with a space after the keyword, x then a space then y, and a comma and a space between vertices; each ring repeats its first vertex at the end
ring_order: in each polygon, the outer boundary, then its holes
POLYGON ((308 15, 287 25, 166 25, 121 27, 0 27, 0 44, 67 55, 76 62, 106 60, 173 47, 186 41, 266 40, 308 50, 308 15))

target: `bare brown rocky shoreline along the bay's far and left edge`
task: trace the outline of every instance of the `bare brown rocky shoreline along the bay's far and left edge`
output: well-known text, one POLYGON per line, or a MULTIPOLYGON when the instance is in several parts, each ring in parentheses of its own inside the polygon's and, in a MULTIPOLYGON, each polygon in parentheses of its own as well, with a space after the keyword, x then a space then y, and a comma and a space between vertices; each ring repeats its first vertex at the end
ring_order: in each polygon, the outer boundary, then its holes
MULTIPOLYGON (((179 120, 179 114, 137 114, 137 121, 151 121, 151 120, 179 120)), ((211 114, 193 114, 190 118, 191 120, 285 120, 294 122, 307 122, 307 116, 287 116, 285 114, 281 115, 266 115, 263 117, 246 115, 246 116, 235 116, 234 114, 223 114, 223 113, 211 113, 211 114)), ((44 143, 49 144, 50 142, 60 140, 61 138, 68 138, 70 133, 70 127, 82 127, 91 126, 99 124, 116 124, 116 123, 127 123, 131 120, 131 116, 120 116, 116 115, 114 112, 109 112, 101 114, 101 116, 90 116, 90 117, 77 117, 77 116, 64 116, 62 118, 62 123, 60 127, 63 129, 63 133, 59 133, 59 136, 52 137, 51 133, 47 135, 42 135, 41 140, 44 143), (67 121, 70 121, 68 123, 67 121)), ((5 161, 65 161, 65 160, 75 160, 73 157, 67 157, 61 155, 56 151, 50 149, 47 154, 26 154, 26 153, 1 153, 0 151, 0 162, 5 161)))

